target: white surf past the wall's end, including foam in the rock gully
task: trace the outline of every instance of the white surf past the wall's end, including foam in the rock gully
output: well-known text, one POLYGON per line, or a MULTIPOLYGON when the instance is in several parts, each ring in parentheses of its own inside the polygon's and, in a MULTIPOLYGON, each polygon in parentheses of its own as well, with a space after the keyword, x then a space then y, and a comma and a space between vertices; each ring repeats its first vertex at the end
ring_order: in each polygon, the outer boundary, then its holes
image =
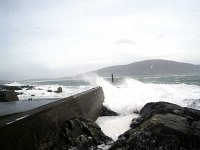
POLYGON ((138 117, 134 112, 140 111, 148 102, 167 101, 181 106, 192 106, 185 100, 200 97, 200 87, 197 85, 144 83, 133 78, 124 78, 119 83, 112 84, 95 75, 86 79, 89 79, 87 81, 92 86, 103 87, 104 105, 120 114, 99 117, 96 121, 102 131, 113 140, 130 128, 131 120, 138 117))

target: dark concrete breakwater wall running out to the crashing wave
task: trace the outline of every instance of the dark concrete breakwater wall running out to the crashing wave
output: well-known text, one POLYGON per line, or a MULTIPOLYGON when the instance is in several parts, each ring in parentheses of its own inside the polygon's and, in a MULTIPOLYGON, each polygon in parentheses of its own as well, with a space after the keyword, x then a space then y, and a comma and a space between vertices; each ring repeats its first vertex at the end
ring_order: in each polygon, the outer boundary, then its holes
POLYGON ((0 150, 40 149, 43 142, 55 134, 65 120, 82 117, 95 121, 103 100, 103 90, 97 87, 27 112, 1 118, 0 150))

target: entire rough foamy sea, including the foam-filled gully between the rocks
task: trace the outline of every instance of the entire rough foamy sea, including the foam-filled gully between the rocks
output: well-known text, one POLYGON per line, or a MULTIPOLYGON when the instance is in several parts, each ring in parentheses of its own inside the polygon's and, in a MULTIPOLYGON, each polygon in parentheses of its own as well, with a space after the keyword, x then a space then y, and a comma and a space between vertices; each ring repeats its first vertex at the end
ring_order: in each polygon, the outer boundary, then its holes
POLYGON ((32 90, 17 91, 22 93, 18 97, 20 101, 29 98, 33 102, 41 101, 40 105, 101 86, 105 95, 104 105, 120 116, 99 117, 96 123, 113 140, 117 140, 120 134, 129 129, 131 120, 138 117, 135 112, 140 111, 148 102, 165 101, 200 110, 200 74, 129 76, 115 77, 114 80, 112 83, 110 77, 93 74, 79 79, 30 80, 6 85, 34 86, 32 90), (62 93, 53 92, 58 87, 62 87, 62 93))

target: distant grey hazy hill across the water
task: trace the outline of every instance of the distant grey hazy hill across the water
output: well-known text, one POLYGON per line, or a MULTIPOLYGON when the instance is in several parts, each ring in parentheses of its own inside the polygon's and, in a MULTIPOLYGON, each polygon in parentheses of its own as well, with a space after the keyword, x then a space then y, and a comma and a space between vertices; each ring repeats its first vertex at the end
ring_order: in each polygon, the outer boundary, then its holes
POLYGON ((152 59, 127 65, 111 66, 94 71, 100 76, 132 76, 200 73, 200 66, 170 60, 152 59))

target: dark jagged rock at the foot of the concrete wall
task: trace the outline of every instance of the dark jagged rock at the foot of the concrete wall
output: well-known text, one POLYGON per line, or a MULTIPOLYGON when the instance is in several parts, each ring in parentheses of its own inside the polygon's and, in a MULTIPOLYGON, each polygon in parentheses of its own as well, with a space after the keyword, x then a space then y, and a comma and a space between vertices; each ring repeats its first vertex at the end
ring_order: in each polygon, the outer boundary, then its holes
POLYGON ((64 123, 60 131, 52 136, 43 149, 97 149, 98 145, 107 144, 111 140, 96 123, 86 119, 73 118, 64 123))

